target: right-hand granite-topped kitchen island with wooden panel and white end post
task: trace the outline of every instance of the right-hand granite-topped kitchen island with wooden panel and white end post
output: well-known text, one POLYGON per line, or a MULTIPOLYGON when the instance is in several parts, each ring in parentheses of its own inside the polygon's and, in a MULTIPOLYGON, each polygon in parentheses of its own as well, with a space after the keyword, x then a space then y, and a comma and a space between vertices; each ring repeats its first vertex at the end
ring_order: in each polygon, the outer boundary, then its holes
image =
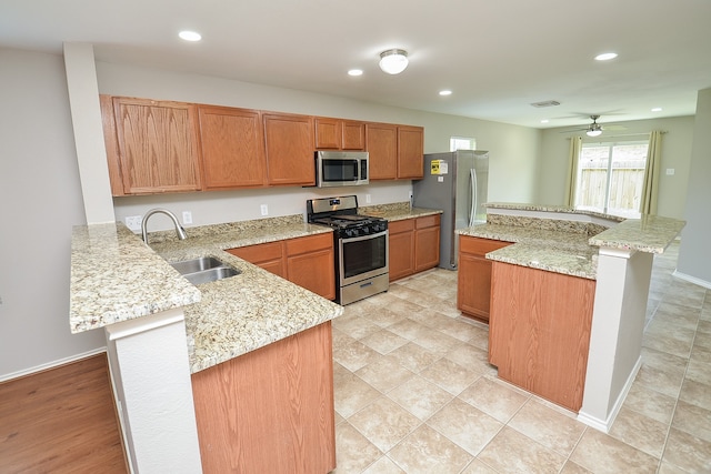
MULTIPOLYGON (((639 370, 653 254, 684 222, 491 203, 469 241, 491 261, 489 360, 499 375, 608 431, 639 370)), ((460 265, 459 292, 462 286, 460 265)), ((467 282, 468 280, 464 280, 467 282)))

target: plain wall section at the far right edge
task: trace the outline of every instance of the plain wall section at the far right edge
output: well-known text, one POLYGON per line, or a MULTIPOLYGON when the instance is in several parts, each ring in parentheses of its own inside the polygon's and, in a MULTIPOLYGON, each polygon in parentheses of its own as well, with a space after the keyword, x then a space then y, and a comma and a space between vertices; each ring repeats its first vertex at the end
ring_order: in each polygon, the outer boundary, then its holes
POLYGON ((711 89, 699 91, 693 130, 691 173, 687 194, 687 226, 681 231, 678 273, 711 288, 711 89))

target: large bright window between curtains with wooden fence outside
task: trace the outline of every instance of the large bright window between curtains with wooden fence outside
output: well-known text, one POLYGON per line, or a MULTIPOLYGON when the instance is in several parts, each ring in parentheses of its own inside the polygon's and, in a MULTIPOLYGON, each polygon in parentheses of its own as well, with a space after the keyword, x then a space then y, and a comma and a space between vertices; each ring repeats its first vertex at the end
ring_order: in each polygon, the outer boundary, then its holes
POLYGON ((639 211, 648 145, 647 142, 583 143, 575 205, 607 212, 639 211))

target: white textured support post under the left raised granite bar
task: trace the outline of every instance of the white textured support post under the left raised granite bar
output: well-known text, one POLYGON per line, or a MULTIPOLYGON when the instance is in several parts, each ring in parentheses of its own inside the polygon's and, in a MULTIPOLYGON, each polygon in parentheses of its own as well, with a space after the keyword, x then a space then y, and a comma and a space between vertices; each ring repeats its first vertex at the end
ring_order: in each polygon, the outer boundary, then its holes
POLYGON ((106 327, 109 366, 133 473, 201 473, 181 309, 106 327))

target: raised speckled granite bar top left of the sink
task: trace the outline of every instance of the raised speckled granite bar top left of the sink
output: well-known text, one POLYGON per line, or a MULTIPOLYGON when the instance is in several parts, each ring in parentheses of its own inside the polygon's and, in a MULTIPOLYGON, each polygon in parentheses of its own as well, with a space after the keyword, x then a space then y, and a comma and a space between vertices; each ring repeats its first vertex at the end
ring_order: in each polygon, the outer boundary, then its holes
POLYGON ((200 291, 123 224, 72 229, 69 309, 72 333, 199 301, 200 291))

